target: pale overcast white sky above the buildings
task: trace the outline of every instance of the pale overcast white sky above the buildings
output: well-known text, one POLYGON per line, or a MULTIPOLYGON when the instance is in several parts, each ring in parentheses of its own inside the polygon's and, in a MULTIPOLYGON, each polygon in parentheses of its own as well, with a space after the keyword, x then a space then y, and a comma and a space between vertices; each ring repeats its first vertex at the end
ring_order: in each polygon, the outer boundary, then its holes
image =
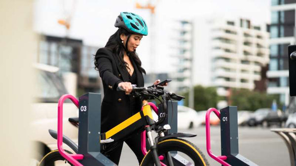
POLYGON ((149 10, 136 9, 136 2, 146 5, 148 0, 36 0, 34 29, 46 35, 64 37, 68 34, 83 40, 84 45, 104 47, 116 31, 114 22, 119 13, 137 13, 146 20, 149 31, 137 49, 138 55, 148 73, 161 73, 174 70, 170 43, 175 20, 225 16, 250 19, 255 25, 270 22, 270 0, 150 0, 156 4, 153 26, 149 10), (72 13, 72 19, 67 32, 57 20, 68 13, 72 13), (151 47, 155 48, 153 52, 151 47))

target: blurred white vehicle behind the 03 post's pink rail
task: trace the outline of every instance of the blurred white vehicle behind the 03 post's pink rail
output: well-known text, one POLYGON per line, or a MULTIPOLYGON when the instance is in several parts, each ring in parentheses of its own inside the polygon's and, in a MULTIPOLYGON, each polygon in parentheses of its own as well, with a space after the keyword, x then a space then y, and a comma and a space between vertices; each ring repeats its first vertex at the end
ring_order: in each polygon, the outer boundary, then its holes
MULTIPOLYGON (((49 135, 48 129, 57 130, 58 100, 63 94, 68 93, 61 78, 57 75, 59 68, 45 64, 35 64, 34 68, 36 69, 37 93, 35 102, 32 104, 30 129, 32 131, 31 140, 36 146, 36 154, 32 158, 32 166, 49 151, 57 149, 56 139, 49 135)), ((64 103, 63 111, 63 134, 78 142, 78 129, 68 121, 69 117, 78 117, 78 109, 69 101, 64 103)), ((67 145, 64 147, 67 149, 67 145)))

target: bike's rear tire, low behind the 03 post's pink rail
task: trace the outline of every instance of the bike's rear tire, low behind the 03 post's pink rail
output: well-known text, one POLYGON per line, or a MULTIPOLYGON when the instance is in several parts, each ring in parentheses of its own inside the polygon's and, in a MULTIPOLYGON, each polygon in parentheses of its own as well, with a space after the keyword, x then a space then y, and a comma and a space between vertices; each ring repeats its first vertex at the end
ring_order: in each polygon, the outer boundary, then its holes
MULTIPOLYGON (((65 150, 67 153, 72 154, 70 151, 65 150)), ((38 166, 54 166, 56 161, 64 161, 65 166, 73 166, 70 164, 59 152, 59 150, 53 150, 47 153, 40 161, 38 166)))

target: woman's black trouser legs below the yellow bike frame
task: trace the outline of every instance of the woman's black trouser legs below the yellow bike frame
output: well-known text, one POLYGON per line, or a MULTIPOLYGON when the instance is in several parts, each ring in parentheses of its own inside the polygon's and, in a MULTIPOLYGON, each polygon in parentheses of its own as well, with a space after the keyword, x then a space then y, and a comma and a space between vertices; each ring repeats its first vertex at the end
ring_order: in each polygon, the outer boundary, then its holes
MULTIPOLYGON (((137 156, 139 165, 141 164, 144 155, 141 150, 141 134, 137 133, 132 135, 130 138, 124 140, 124 142, 132 149, 132 151, 137 156)), ((147 139, 146 144, 148 145, 147 139)), ((107 143, 105 150, 102 152, 106 157, 108 157, 116 165, 119 164, 119 159, 121 155, 121 150, 123 146, 123 141, 115 143, 107 143)), ((146 147, 147 150, 149 147, 146 147)))

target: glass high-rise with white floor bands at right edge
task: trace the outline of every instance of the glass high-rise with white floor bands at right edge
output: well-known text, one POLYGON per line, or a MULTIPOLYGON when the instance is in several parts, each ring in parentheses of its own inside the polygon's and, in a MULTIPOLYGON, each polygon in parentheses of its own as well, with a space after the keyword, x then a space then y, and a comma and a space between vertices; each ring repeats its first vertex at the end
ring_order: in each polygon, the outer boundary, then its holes
POLYGON ((296 0, 271 0, 270 62, 267 93, 289 104, 288 45, 295 43, 296 0))

